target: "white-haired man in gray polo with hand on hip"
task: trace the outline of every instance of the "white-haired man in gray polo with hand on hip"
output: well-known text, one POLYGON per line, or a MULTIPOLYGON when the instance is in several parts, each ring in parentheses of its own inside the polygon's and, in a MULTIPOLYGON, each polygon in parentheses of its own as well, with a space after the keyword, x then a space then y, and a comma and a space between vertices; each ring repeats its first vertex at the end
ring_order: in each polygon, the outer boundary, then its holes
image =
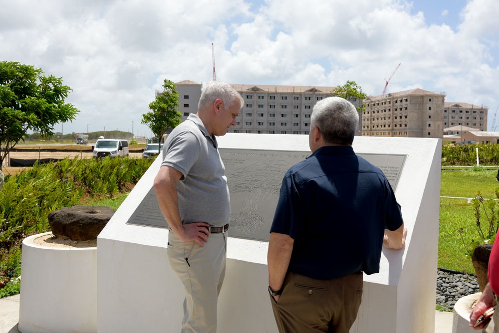
POLYGON ((208 83, 198 113, 168 136, 154 180, 170 227, 168 259, 184 284, 182 333, 215 333, 225 276, 230 198, 216 136, 236 125, 244 100, 230 85, 208 83))

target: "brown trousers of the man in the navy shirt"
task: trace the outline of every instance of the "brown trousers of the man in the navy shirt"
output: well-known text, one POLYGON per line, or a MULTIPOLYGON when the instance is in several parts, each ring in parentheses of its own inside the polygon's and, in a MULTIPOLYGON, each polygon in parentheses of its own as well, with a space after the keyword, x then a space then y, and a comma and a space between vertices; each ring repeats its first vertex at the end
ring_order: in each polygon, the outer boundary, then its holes
POLYGON ((278 302, 270 296, 279 333, 348 333, 362 302, 362 273, 315 280, 289 273, 278 302))

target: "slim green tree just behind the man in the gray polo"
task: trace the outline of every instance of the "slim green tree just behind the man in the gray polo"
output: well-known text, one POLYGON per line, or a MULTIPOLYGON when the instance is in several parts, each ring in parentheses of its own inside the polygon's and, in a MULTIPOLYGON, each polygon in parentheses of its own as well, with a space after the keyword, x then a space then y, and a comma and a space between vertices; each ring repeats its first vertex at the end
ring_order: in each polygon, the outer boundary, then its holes
MULTIPOLYGON (((175 84, 165 79, 163 92, 156 95, 154 102, 149 103, 149 109, 152 112, 144 113, 141 121, 151 129, 159 143, 166 131, 181 123, 182 114, 177 110, 178 106, 179 93, 175 90, 175 84)), ((158 145, 158 152, 161 153, 161 144, 158 145)))

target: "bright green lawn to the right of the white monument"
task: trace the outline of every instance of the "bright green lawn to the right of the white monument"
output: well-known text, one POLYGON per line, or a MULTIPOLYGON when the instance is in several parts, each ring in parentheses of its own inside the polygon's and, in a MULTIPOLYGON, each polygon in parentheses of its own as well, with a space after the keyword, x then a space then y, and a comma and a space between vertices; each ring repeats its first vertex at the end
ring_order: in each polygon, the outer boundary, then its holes
MULTIPOLYGON (((484 198, 497 199, 496 174, 497 170, 442 171, 440 195, 472 198, 480 191, 484 198)), ((475 273, 465 247, 465 243, 479 239, 475 221, 475 212, 468 199, 440 198, 439 267, 475 273), (463 239, 460 228, 463 228, 463 239)))

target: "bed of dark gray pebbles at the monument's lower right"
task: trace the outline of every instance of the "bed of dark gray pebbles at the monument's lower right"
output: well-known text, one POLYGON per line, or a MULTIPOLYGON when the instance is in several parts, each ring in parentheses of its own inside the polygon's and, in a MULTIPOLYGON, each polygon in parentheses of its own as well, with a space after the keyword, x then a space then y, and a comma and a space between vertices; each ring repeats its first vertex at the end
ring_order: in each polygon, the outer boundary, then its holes
POLYGON ((437 271, 436 305, 453 310, 456 302, 464 296, 480 293, 477 277, 454 271, 437 271))

